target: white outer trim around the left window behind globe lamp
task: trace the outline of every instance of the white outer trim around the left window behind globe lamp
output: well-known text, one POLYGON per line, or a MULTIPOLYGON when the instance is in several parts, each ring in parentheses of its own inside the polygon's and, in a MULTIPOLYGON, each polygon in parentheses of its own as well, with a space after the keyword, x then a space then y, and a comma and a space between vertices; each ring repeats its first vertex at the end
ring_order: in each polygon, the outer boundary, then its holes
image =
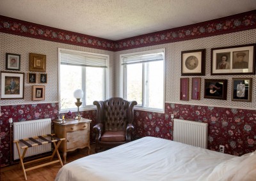
MULTIPOLYGON (((107 68, 105 69, 105 80, 104 80, 104 84, 105 84, 105 98, 108 99, 109 98, 109 55, 106 54, 95 54, 95 53, 91 53, 91 52, 83 52, 83 51, 78 51, 78 50, 69 50, 69 49, 65 49, 65 48, 58 48, 58 110, 60 110, 60 54, 61 54, 61 50, 65 50, 68 52, 77 52, 77 53, 86 53, 89 55, 100 55, 100 56, 104 56, 107 58, 107 68)), ((73 95, 72 95, 73 96, 73 95)), ((96 100, 95 100, 96 101, 96 100)), ((75 104, 75 103, 74 103, 75 104)), ((87 105, 85 108, 79 108, 79 111, 89 111, 89 110, 96 110, 96 106, 95 105, 87 105)), ((60 113, 67 113, 68 111, 70 112, 77 112, 77 108, 70 108, 70 109, 63 109, 60 110, 60 113)))

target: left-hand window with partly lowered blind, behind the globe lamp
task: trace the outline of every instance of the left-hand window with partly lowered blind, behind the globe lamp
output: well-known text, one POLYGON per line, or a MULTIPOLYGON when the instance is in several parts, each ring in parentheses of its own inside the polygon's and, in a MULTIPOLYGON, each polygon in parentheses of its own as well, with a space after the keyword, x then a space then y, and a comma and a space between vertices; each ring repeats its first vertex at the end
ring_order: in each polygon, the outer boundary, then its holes
POLYGON ((79 110, 93 107, 93 101, 108 96, 109 55, 91 54, 59 48, 60 59, 60 108, 61 112, 77 110, 74 91, 82 89, 83 104, 79 110))

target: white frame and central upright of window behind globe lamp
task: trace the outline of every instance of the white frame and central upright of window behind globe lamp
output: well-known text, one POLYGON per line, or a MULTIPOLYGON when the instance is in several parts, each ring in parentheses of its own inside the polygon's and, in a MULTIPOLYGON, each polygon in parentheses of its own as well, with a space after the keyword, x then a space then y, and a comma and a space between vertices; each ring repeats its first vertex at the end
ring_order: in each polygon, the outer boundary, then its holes
MULTIPOLYGON (((103 89, 103 94, 102 95, 104 98, 103 99, 108 99, 109 98, 109 55, 106 54, 95 54, 92 52, 84 52, 84 51, 79 51, 79 50, 70 50, 70 49, 66 49, 66 48, 58 48, 58 110, 60 111, 60 113, 67 113, 68 111, 71 112, 77 112, 77 108, 68 108, 68 109, 61 109, 61 91, 60 91, 60 66, 61 66, 61 59, 60 59, 60 54, 61 54, 61 50, 64 50, 65 52, 74 52, 74 53, 80 53, 80 54, 87 54, 87 55, 99 55, 102 57, 106 57, 106 65, 107 68, 104 68, 104 73, 102 76, 104 76, 102 78, 103 80, 103 84, 102 85, 102 89, 103 89)), ((82 67, 82 90, 84 91, 85 89, 85 79, 86 79, 86 71, 85 71, 86 67, 82 67)), ((75 91, 75 90, 74 90, 75 91)), ((95 105, 85 105, 84 106, 84 99, 85 99, 85 94, 86 92, 84 91, 84 98, 82 99, 83 104, 82 106, 79 107, 79 111, 88 111, 88 110, 95 110, 96 106, 95 105)), ((73 95, 72 95, 73 96, 73 95)), ((74 98, 75 99, 75 98, 74 98)), ((75 103, 74 103, 75 105, 75 103)))

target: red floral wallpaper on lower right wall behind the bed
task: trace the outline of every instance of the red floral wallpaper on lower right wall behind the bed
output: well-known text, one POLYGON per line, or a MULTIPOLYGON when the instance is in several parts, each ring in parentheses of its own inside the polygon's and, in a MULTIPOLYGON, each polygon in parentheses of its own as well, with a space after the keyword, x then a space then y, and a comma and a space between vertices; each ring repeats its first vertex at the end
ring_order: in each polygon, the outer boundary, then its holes
POLYGON ((208 123, 208 149, 241 156, 256 150, 256 110, 165 104, 165 113, 134 112, 136 138, 154 136, 172 140, 171 114, 177 119, 208 123))

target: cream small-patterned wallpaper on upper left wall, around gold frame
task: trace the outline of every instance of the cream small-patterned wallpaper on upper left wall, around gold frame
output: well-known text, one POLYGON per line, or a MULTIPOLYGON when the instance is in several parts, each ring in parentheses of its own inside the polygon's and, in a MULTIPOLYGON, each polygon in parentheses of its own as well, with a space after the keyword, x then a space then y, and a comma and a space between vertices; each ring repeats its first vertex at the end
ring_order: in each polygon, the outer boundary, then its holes
POLYGON ((39 40, 13 34, 0 33, 0 71, 10 71, 5 69, 5 56, 6 53, 11 53, 20 55, 20 71, 14 72, 25 73, 24 99, 2 99, 0 100, 0 105, 3 106, 58 102, 58 48, 66 48, 70 50, 79 50, 84 52, 109 55, 109 96, 113 96, 114 52, 47 40, 39 40), (32 85, 43 84, 38 83, 39 72, 37 72, 37 83, 28 83, 29 53, 46 55, 45 73, 47 73, 48 78, 47 83, 44 83, 44 101, 32 101, 31 99, 32 85))

